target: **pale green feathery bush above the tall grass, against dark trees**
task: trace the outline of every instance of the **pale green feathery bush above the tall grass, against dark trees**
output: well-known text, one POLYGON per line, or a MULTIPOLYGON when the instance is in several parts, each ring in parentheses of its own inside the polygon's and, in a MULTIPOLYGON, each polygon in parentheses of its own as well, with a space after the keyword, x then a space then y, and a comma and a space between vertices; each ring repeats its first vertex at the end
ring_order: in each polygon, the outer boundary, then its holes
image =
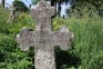
POLYGON ((69 16, 74 18, 95 18, 99 16, 95 7, 90 3, 83 3, 81 6, 76 6, 74 9, 71 8, 69 10, 69 16))

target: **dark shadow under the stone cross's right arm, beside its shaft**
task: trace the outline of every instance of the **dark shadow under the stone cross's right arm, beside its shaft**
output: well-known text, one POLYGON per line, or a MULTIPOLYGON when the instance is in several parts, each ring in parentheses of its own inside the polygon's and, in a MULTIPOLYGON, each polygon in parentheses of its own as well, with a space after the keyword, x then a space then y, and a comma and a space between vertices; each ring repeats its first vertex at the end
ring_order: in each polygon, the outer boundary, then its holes
POLYGON ((64 69, 69 67, 79 68, 81 59, 74 55, 70 55, 68 51, 55 50, 56 69, 64 69))

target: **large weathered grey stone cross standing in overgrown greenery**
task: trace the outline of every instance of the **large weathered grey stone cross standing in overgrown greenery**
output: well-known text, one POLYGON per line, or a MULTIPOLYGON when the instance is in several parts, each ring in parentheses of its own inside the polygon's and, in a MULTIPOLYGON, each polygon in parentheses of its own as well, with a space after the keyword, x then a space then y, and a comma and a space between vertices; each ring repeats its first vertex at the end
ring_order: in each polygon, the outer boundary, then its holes
POLYGON ((41 0, 38 7, 31 10, 31 16, 35 19, 35 31, 22 28, 17 34, 17 41, 23 51, 34 47, 35 69, 56 69, 54 46, 68 50, 72 43, 73 33, 65 26, 56 32, 52 31, 51 17, 54 14, 54 7, 41 0))

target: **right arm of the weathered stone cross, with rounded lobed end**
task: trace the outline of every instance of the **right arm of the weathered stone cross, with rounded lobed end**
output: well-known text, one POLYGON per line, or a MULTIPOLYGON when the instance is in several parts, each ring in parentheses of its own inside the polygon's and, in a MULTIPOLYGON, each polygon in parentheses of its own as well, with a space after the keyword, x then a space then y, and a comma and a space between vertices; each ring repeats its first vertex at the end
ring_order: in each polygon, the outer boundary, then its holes
POLYGON ((60 46, 62 50, 70 49, 74 34, 64 26, 54 33, 54 46, 60 46))

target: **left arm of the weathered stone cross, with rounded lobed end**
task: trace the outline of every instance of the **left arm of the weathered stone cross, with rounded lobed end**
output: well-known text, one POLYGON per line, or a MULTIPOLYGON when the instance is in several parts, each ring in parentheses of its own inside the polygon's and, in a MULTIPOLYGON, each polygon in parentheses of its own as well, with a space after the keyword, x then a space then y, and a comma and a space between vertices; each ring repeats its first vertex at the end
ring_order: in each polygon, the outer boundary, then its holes
POLYGON ((22 28, 20 33, 16 37, 21 50, 27 51, 30 46, 33 46, 33 32, 28 28, 22 28))

